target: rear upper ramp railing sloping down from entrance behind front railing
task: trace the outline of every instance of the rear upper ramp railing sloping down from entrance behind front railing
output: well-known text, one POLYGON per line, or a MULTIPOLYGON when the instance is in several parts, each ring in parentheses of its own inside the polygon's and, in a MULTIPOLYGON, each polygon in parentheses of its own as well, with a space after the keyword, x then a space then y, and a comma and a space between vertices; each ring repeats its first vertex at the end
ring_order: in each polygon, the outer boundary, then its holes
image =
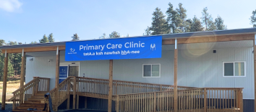
MULTIPOLYGON (((57 111, 58 106, 65 100, 69 103, 70 95, 82 95, 93 98, 108 99, 108 83, 108 80, 98 78, 82 78, 73 76, 67 78, 58 85, 58 88, 54 88, 49 92, 54 111, 57 111)), ((116 95, 172 90, 174 86, 113 80, 113 88, 113 93, 116 95)), ((188 88, 190 87, 178 86, 179 90, 188 88)), ((73 101, 75 100, 76 99, 73 99, 73 101)), ((79 99, 77 99, 77 102, 78 100, 79 99)), ((67 105, 67 108, 69 108, 69 105, 67 105)))

